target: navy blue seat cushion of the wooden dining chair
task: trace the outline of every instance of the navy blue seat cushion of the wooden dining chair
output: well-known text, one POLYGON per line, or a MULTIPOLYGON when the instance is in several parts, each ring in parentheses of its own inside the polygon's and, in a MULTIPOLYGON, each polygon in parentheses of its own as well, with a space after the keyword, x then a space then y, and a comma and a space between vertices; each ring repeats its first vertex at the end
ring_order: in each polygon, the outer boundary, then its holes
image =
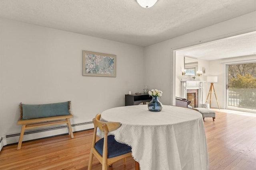
MULTIPOLYGON (((95 143, 95 149, 102 156, 104 138, 95 143)), ((114 139, 114 135, 108 135, 108 158, 113 158, 132 151, 132 148, 124 143, 119 143, 114 139)))

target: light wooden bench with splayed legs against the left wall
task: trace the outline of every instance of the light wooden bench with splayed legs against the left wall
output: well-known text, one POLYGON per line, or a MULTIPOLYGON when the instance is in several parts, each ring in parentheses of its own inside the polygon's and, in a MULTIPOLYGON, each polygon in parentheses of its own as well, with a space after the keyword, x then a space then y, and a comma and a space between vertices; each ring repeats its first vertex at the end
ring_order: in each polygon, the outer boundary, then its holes
MULTIPOLYGON (((63 102, 65 103, 65 102, 63 102)), ((61 115, 62 113, 58 113, 57 116, 49 116, 49 117, 40 117, 41 115, 33 115, 34 117, 38 116, 39 118, 32 118, 29 119, 29 117, 26 117, 26 119, 24 119, 24 109, 22 109, 22 103, 20 103, 20 119, 17 122, 17 125, 22 125, 21 131, 20 131, 20 139, 18 142, 18 148, 17 150, 19 150, 21 148, 21 144, 22 144, 22 139, 24 136, 24 132, 26 129, 32 129, 32 128, 36 128, 36 127, 44 127, 44 126, 50 126, 50 125, 60 125, 60 124, 67 124, 68 127, 68 134, 71 136, 71 138, 74 138, 73 135, 73 131, 72 131, 72 127, 71 127, 71 123, 70 123, 70 118, 73 117, 73 115, 70 113, 70 101, 68 101, 68 113, 66 113, 66 115, 61 115)), ((62 103, 59 103, 62 104, 62 103)), ((47 104, 44 104, 47 105, 47 104)), ((48 104, 50 105, 50 104, 48 104)), ((29 105, 26 105, 26 107, 29 105)), ((31 105, 33 106, 33 105, 31 105)), ((40 106, 40 105, 38 105, 40 106)), ((35 107, 34 107, 35 108, 35 107)), ((36 109, 34 109, 36 112, 36 109)), ((33 109, 30 109, 30 111, 33 111, 33 109)), ((56 112, 56 110, 55 110, 56 112)), ((48 110, 48 114, 49 110, 48 110)), ((54 115, 54 114, 53 114, 54 115)))

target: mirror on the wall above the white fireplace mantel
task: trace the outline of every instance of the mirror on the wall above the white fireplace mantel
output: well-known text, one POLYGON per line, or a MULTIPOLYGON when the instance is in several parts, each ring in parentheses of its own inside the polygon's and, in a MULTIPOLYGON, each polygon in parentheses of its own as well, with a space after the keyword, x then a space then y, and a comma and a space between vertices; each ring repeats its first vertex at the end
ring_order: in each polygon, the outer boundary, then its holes
POLYGON ((198 59, 184 56, 184 73, 186 76, 196 76, 198 71, 198 59))

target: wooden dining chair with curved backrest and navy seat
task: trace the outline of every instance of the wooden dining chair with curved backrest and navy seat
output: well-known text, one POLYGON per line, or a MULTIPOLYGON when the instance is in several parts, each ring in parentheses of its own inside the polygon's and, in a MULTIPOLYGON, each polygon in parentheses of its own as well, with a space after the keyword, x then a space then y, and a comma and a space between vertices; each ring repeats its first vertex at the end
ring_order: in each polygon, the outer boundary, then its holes
POLYGON ((120 159, 124 159, 124 164, 126 164, 125 158, 127 156, 132 156, 132 148, 126 144, 117 142, 113 135, 108 135, 108 132, 118 129, 121 126, 121 123, 100 121, 100 114, 96 115, 93 119, 93 123, 94 132, 88 170, 92 169, 93 156, 96 156, 102 164, 102 170, 107 170, 108 165, 111 165, 120 159), (104 137, 96 142, 97 128, 104 132, 104 137))

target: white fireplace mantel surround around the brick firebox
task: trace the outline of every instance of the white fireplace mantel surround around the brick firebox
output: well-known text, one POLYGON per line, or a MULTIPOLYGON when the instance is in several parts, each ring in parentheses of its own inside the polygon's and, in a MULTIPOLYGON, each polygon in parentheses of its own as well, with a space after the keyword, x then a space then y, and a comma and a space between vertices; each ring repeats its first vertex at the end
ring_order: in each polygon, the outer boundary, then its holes
POLYGON ((203 89, 204 89, 204 82, 205 81, 186 81, 181 80, 181 96, 182 98, 187 98, 187 93, 191 90, 198 91, 198 107, 201 107, 203 101, 203 89))

